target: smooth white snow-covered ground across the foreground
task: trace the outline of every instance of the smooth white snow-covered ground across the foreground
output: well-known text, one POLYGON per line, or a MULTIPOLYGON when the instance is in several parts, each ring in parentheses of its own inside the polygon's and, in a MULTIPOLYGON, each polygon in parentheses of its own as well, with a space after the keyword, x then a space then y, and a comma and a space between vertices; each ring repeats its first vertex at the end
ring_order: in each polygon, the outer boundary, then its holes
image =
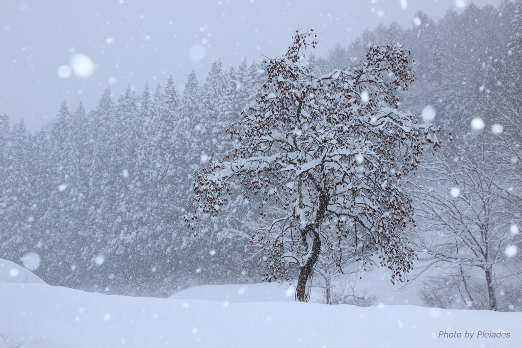
POLYGON ((30 274, 0 260, 2 348, 522 346, 522 313, 296 303, 278 284, 199 286, 170 298, 116 296, 50 286, 30 274), (478 338, 480 332, 509 337, 478 338))

